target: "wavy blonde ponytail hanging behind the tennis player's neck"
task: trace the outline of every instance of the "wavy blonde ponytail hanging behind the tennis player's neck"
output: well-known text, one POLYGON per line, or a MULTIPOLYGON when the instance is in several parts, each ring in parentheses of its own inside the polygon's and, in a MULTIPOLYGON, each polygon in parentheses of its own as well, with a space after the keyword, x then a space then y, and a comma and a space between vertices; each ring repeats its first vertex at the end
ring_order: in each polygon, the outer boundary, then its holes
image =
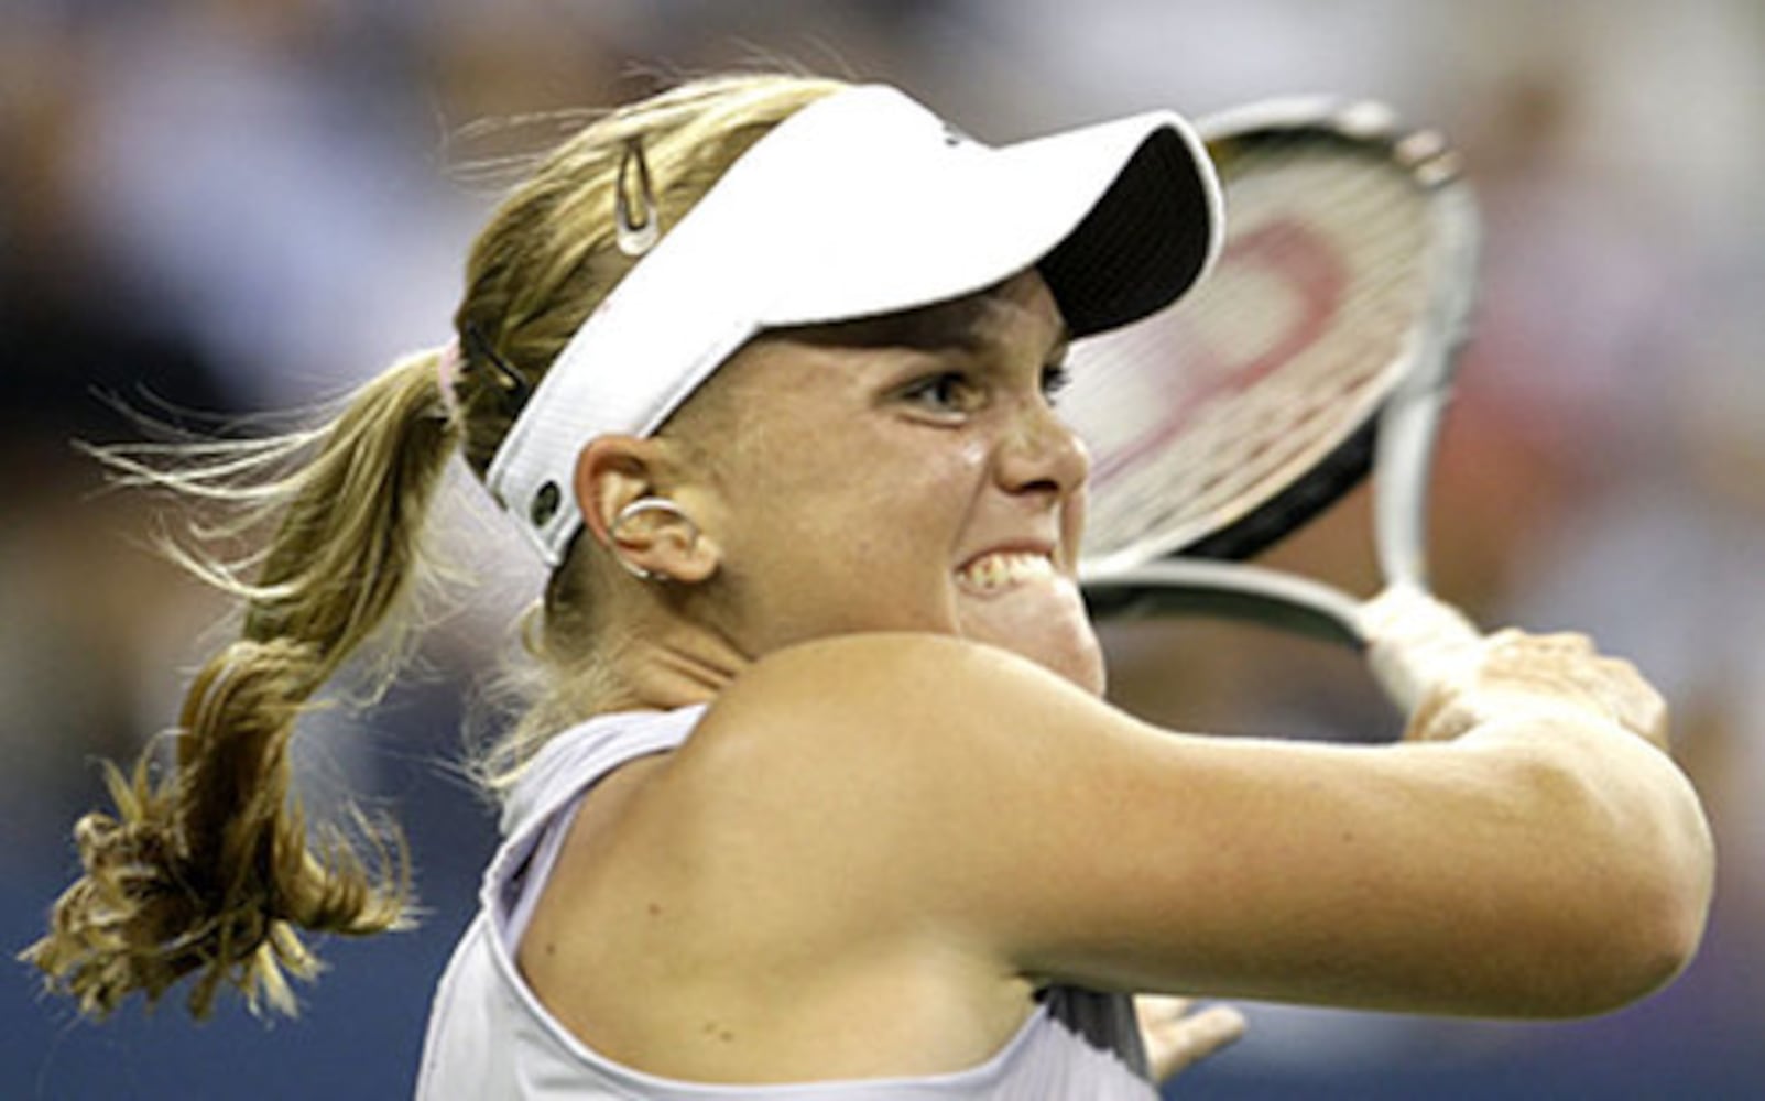
POLYGON ((288 746, 314 693, 371 635, 401 649, 424 519, 459 441, 436 363, 438 353, 402 360, 314 432, 101 452, 124 482, 229 505, 233 519, 210 536, 261 522, 274 536, 254 580, 175 550, 242 600, 242 637, 192 681, 169 769, 155 769, 152 750, 129 775, 106 766, 113 812, 74 828, 85 877, 23 958, 81 1011, 104 1016, 134 992, 155 1002, 196 976, 196 1016, 221 986, 252 1009, 293 1013, 288 976, 318 970, 298 930, 362 935, 404 921, 402 838, 365 820, 357 840, 330 824, 309 835, 288 746))

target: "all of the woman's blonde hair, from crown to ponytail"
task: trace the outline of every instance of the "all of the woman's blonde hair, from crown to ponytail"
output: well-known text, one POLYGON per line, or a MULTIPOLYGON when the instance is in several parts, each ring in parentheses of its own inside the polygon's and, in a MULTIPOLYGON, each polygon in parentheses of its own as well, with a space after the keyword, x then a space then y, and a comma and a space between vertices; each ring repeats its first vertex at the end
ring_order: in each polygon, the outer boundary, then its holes
MULTIPOLYGON (((196 1016, 222 986, 252 1009, 293 1013, 288 976, 318 970, 302 930, 365 935, 408 921, 409 861, 395 826, 362 815, 353 831, 309 826, 289 790, 297 720, 371 639, 387 642, 385 655, 402 653, 418 623, 411 595, 429 561, 425 519, 447 459, 459 448, 484 476, 521 399, 634 263, 614 245, 621 157, 641 145, 665 229, 768 129, 838 86, 778 74, 699 79, 605 113, 561 143, 471 249, 452 393, 438 383, 443 353, 425 351, 312 431, 101 452, 124 482, 226 506, 233 519, 201 535, 235 540, 267 524, 270 536, 244 561, 173 549, 237 598, 238 639, 191 683, 173 762, 157 768, 150 748, 132 771, 106 766, 113 808, 74 828, 85 875, 23 953, 49 988, 104 1016, 134 992, 155 1002, 194 976, 196 1016)), ((595 706, 597 623, 579 558, 581 547, 547 582, 530 648, 545 686, 491 746, 482 775, 492 790, 595 706)))

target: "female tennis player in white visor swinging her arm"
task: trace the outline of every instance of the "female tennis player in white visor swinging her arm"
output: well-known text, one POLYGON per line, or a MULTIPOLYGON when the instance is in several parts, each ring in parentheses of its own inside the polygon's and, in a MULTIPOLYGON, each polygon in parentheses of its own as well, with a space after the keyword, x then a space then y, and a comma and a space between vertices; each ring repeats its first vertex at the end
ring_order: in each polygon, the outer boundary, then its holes
MULTIPOLYGON (((1181 296, 1218 222, 1168 113, 990 148, 762 76, 591 124, 477 242, 457 339, 251 491, 281 508, 256 579, 210 570, 240 639, 176 768, 79 824, 32 958, 92 1013, 180 977, 201 1013, 286 1002, 298 930, 401 919, 397 861, 307 838, 286 752, 408 619, 462 450, 551 570, 545 676, 485 762, 505 840, 425 1097, 1151 1097, 1130 993, 1574 1016, 1661 986, 1709 831, 1659 697, 1585 639, 1491 637, 1391 746, 1101 699, 1063 351, 1181 296)), ((157 476, 212 496, 249 461, 157 476)), ((1380 644, 1430 646, 1430 609, 1380 644)))

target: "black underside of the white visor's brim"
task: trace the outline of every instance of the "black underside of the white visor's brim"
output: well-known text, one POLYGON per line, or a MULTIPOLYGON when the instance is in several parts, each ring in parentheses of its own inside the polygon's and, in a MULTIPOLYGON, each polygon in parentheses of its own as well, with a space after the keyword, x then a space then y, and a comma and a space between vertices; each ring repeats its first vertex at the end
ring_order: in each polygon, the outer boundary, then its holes
POLYGON ((1091 213, 1036 268, 1073 337, 1138 321, 1190 289, 1213 233, 1188 145, 1153 131, 1091 213))

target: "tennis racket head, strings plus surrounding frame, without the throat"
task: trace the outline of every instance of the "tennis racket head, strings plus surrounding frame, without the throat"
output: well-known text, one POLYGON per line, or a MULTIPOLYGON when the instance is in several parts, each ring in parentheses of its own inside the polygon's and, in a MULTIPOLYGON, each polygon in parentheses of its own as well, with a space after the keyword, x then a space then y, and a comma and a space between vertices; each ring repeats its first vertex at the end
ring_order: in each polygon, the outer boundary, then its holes
POLYGON ((1437 134, 1313 97, 1198 125, 1227 201, 1218 265, 1073 348, 1087 588, 1174 554, 1250 558, 1310 521, 1366 476, 1391 399, 1417 374, 1446 385, 1433 353, 1467 328, 1476 215, 1437 134))

